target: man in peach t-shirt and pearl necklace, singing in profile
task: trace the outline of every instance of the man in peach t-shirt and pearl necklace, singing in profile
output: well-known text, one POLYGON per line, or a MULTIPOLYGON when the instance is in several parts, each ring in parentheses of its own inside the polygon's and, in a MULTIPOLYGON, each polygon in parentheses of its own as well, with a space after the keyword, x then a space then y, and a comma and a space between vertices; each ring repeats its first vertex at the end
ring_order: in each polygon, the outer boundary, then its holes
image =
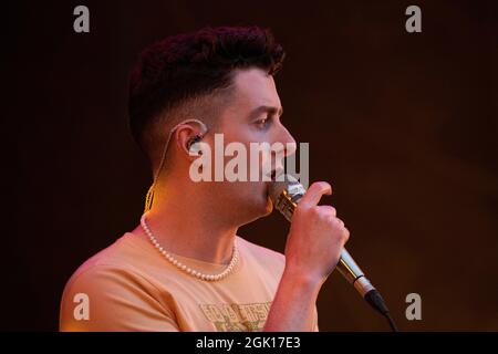
POLYGON ((283 56, 259 28, 204 29, 142 53, 129 117, 155 176, 146 212, 70 279, 61 331, 318 331, 317 296, 349 238, 334 208, 318 206, 330 185, 300 201, 283 256, 237 236, 271 212, 268 181, 191 178, 209 153, 193 147, 212 147, 215 134, 294 143, 273 81, 283 56))

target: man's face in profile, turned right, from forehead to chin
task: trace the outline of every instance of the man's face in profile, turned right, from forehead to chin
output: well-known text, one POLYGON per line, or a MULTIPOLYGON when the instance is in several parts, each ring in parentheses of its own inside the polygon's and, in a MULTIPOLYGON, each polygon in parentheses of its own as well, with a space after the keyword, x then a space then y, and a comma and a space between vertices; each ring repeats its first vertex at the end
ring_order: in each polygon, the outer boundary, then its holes
MULTIPOLYGON (((273 77, 260 69, 239 70, 234 76, 234 96, 220 118, 219 129, 224 134, 225 146, 232 142, 246 146, 248 181, 224 181, 215 187, 220 200, 227 202, 227 212, 239 212, 236 217, 248 222, 272 210, 268 198, 269 181, 262 180, 262 164, 268 162, 268 154, 259 154, 258 166, 250 164, 250 143, 288 143, 295 144, 294 138, 280 122, 282 106, 277 93, 273 77), (262 157, 266 155, 266 157, 262 157), (258 181, 250 180, 250 171, 259 169, 258 181), (237 211, 234 211, 237 210, 237 211)), ((271 154, 271 169, 281 169, 281 158, 292 150, 280 150, 271 154)), ((225 166, 234 157, 225 157, 225 166)))

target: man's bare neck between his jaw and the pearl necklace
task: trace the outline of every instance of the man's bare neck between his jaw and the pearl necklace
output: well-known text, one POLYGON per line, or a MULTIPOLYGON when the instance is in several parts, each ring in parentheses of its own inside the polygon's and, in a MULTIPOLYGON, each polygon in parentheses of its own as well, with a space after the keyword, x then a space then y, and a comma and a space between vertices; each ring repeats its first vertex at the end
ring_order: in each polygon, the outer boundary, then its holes
POLYGON ((216 212, 215 201, 199 194, 201 189, 191 184, 157 186, 146 222, 168 252, 228 264, 238 226, 224 220, 222 214, 216 212))

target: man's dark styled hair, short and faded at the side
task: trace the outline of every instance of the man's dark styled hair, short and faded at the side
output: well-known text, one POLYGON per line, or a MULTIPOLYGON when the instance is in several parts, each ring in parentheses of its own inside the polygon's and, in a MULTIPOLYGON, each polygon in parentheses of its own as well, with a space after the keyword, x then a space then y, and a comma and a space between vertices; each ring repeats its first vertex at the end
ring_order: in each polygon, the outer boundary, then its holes
MULTIPOLYGON (((205 28, 168 37, 146 48, 129 80, 129 129, 152 159, 153 131, 168 112, 232 83, 237 69, 259 67, 274 75, 284 52, 270 30, 258 27, 205 28)), ((200 100, 203 101, 203 100, 200 100)))

